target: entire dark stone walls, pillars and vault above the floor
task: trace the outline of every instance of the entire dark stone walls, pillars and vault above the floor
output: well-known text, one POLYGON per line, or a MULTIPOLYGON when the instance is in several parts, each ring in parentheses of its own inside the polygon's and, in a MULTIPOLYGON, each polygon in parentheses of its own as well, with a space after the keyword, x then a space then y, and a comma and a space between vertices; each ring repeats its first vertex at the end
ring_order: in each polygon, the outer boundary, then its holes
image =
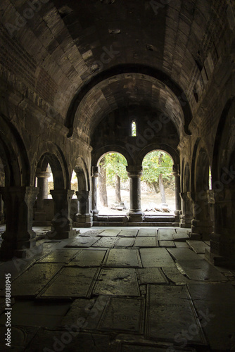
POLYGON ((174 161, 174 225, 235 265, 235 5, 166 2, 1 1, 1 258, 37 246, 33 221, 56 239, 94 225, 97 163, 110 151, 127 159, 128 220, 145 223, 141 163, 160 149, 174 161))

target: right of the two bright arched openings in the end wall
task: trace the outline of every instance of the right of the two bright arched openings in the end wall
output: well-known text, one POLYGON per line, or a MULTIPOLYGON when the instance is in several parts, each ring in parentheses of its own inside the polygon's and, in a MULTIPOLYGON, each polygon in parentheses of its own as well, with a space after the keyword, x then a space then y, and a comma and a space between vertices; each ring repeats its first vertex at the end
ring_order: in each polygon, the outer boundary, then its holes
POLYGON ((142 210, 149 215, 173 213, 175 210, 175 186, 171 156, 164 151, 151 151, 144 157, 142 165, 142 210))

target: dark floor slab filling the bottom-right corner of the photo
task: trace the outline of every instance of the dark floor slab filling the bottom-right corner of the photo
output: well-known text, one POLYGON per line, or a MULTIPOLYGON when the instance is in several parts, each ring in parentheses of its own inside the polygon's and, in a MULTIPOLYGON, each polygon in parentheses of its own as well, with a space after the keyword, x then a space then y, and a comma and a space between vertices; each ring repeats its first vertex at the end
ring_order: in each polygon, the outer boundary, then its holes
POLYGON ((188 284, 188 287, 212 351, 233 351, 235 288, 219 283, 188 284))

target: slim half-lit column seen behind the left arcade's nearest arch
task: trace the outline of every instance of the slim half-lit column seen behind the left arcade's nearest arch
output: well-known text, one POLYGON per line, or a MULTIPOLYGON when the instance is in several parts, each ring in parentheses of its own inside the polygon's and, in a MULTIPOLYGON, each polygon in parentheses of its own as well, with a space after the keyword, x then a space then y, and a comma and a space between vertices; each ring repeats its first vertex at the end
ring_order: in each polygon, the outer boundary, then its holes
POLYGON ((44 199, 47 199, 48 197, 48 178, 50 177, 50 172, 46 172, 46 171, 37 172, 36 176, 37 176, 37 187, 39 187, 39 194, 37 196, 37 210, 35 211, 35 214, 34 214, 34 220, 37 221, 37 226, 40 226, 40 222, 46 221, 46 212, 44 210, 44 199))

